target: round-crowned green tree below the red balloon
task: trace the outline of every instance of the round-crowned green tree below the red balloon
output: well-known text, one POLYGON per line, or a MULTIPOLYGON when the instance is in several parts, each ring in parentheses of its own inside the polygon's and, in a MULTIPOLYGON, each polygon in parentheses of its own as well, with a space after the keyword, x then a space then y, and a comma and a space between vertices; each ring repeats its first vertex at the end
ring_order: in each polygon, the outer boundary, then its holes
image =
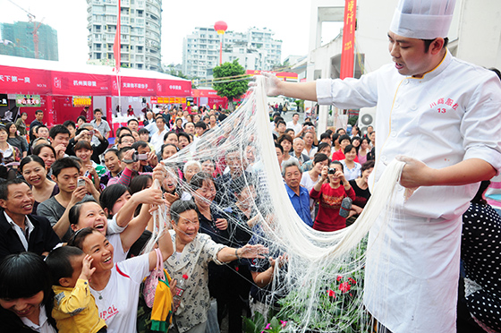
POLYGON ((245 74, 245 70, 236 59, 233 63, 221 64, 214 68, 214 79, 228 78, 220 80, 221 82, 215 81, 213 85, 217 95, 228 98, 228 107, 231 111, 234 110, 234 98, 240 98, 248 89, 249 79, 238 77, 243 74, 245 74), (235 76, 237 77, 235 78, 235 76))

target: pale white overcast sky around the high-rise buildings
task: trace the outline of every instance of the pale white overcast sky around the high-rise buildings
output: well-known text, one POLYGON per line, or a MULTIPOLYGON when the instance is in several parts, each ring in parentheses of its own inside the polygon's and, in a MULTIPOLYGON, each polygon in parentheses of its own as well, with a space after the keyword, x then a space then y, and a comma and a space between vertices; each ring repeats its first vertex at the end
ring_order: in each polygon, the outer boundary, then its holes
MULTIPOLYGON (((89 0, 92 1, 92 0, 89 0)), ((36 16, 36 21, 57 30, 59 61, 85 64, 88 60, 87 1, 84 0, 12 0, 36 16)), ((27 21, 27 14, 9 0, 0 0, 0 21, 27 21)), ((310 1, 308 0, 163 0, 162 64, 181 64, 183 38, 195 27, 213 27, 225 21, 228 30, 244 32, 251 27, 275 31, 281 39, 282 61, 288 55, 308 53, 310 1)), ((324 28, 323 42, 334 38, 335 23, 324 28)))

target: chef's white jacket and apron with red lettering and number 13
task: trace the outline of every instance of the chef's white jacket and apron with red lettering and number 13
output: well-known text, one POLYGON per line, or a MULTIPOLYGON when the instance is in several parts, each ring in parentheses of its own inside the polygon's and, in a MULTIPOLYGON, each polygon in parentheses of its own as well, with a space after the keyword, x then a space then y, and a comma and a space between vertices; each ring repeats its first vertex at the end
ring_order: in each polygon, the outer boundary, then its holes
MULTIPOLYGON (((318 80, 317 98, 339 108, 377 106, 372 180, 396 155, 433 168, 468 158, 501 168, 500 81, 448 51, 421 79, 388 64, 360 80, 318 80)), ((388 198, 395 215, 379 217, 369 233, 364 302, 394 333, 455 332, 461 217, 478 188, 420 187, 403 201, 398 186, 388 198)))

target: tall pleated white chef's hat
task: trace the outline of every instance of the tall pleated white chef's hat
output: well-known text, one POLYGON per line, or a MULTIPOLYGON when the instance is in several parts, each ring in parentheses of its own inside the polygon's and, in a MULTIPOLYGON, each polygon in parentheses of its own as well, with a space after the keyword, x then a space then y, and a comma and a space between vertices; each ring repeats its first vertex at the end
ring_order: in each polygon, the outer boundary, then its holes
POLYGON ((390 31, 407 38, 446 38, 455 0, 399 0, 390 31))

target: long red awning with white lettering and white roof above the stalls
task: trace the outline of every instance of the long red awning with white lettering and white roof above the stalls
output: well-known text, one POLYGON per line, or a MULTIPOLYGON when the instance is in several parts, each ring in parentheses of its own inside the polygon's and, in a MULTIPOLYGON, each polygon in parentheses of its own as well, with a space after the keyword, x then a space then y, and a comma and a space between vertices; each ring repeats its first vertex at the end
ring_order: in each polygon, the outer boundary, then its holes
POLYGON ((0 55, 0 92, 55 96, 191 96, 191 81, 152 71, 69 66, 58 62, 0 55))

